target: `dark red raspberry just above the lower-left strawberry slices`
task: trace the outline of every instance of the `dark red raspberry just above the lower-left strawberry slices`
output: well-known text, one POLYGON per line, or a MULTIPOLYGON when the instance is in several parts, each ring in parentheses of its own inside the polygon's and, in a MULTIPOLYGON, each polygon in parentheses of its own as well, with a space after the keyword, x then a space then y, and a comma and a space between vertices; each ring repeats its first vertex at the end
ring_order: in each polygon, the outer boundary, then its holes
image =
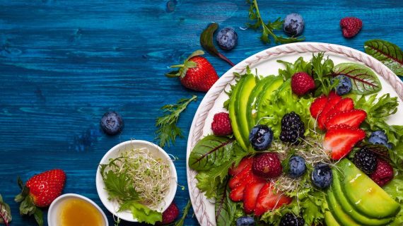
POLYGON ((253 159, 252 172, 267 179, 279 177, 283 172, 277 153, 262 153, 253 159))

